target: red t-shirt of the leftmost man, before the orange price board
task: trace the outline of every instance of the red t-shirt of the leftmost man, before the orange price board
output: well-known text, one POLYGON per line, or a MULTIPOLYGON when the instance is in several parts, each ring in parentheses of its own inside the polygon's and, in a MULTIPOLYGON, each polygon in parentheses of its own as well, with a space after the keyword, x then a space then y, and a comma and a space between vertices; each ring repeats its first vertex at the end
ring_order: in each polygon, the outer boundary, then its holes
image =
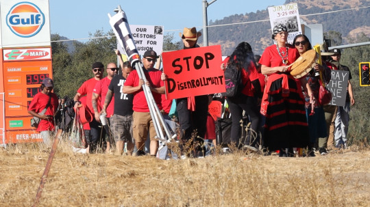
MULTIPOLYGON (((44 115, 53 116, 54 113, 56 113, 56 110, 58 109, 58 97, 56 96, 56 94, 53 93, 51 93, 50 96, 51 96, 50 104, 44 115)), ((38 94, 34 96, 31 103, 29 104, 28 111, 35 111, 36 113, 40 113, 47 106, 50 96, 42 92, 38 92, 38 94)), ((43 130, 53 130, 53 129, 54 129, 54 119, 51 118, 49 120, 40 120, 37 131, 42 132, 43 130)))

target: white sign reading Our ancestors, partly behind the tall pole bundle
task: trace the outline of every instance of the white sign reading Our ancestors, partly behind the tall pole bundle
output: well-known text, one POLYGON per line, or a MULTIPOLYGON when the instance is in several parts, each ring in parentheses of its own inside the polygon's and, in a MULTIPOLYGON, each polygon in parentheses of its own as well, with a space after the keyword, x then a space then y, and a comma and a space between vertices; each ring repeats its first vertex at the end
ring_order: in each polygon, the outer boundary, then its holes
MULTIPOLYGON (((163 26, 153 25, 130 25, 132 38, 139 55, 143 56, 145 51, 156 51, 160 55, 163 50, 163 26)), ((121 46, 117 45, 121 54, 125 54, 121 46)))

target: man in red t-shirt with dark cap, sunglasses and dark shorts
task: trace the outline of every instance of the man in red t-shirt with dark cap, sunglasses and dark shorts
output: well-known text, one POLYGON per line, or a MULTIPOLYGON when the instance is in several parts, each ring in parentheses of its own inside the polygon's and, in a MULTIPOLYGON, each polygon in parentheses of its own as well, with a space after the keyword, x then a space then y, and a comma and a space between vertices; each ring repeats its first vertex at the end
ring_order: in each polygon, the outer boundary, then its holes
MULTIPOLYGON (((81 102, 79 102, 79 98, 81 98, 82 96, 86 96, 86 106, 90 112, 94 111, 92 104, 93 89, 97 81, 100 81, 100 79, 103 78, 104 65, 101 62, 97 61, 93 64, 92 68, 94 77, 82 83, 81 87, 77 89, 77 94, 75 94, 75 97, 73 98, 73 100, 75 100, 75 107, 77 107, 81 104, 81 102)), ((100 105, 98 106, 98 108, 99 110, 101 109, 100 105)), ((101 134, 101 127, 99 126, 101 126, 101 124, 95 119, 90 122, 90 135, 88 136, 89 139, 86 140, 86 142, 88 143, 88 148, 86 150, 87 152, 93 152, 94 150, 96 150, 100 135, 102 137, 105 136, 104 132, 101 134)))

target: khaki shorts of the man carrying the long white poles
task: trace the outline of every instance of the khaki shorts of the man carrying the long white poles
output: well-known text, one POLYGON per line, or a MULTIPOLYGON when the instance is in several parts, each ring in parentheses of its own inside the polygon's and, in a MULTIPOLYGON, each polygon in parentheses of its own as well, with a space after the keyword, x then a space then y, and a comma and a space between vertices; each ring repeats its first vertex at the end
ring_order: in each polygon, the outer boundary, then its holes
POLYGON ((157 140, 156 128, 154 128, 153 120, 149 112, 137 112, 134 111, 132 114, 134 120, 132 124, 132 135, 134 135, 135 141, 144 142, 147 140, 148 132, 150 135, 150 140, 157 140))

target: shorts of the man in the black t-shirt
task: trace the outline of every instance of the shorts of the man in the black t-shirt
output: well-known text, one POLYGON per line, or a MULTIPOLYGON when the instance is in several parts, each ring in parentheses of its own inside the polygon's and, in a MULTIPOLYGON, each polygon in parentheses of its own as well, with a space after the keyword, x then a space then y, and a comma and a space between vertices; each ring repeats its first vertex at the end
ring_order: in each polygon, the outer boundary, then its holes
POLYGON ((134 143, 132 140, 132 115, 112 115, 110 130, 115 141, 134 143))

